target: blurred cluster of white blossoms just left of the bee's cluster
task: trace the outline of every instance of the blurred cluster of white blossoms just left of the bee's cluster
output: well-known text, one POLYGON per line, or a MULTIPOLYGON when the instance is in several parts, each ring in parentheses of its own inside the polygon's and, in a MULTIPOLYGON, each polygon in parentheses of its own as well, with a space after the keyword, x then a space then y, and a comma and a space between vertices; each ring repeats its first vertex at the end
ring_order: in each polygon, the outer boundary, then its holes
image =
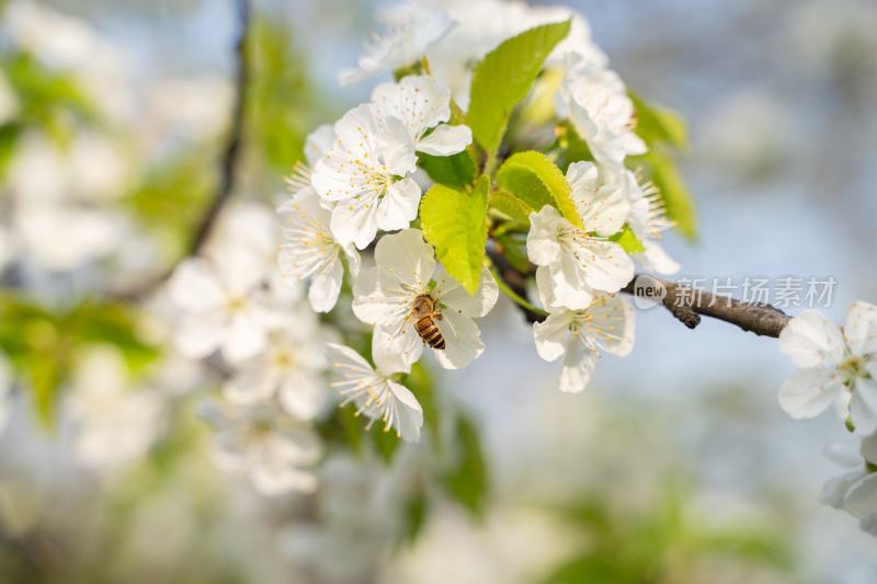
POLYGON ((181 263, 168 283, 176 350, 230 368, 221 406, 206 416, 217 465, 265 494, 316 488, 312 422, 330 402, 324 348, 335 339, 303 287, 281 277, 278 247, 271 210, 241 205, 223 217, 204 256, 181 263))

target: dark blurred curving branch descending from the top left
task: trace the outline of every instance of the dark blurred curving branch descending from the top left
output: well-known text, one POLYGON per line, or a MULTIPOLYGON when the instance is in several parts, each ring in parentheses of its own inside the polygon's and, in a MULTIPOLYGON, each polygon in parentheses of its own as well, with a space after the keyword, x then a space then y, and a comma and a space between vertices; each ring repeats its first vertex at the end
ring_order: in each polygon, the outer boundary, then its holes
POLYGON ((223 207, 228 203, 235 190, 235 173, 240 159, 241 145, 243 142, 243 118, 250 78, 249 61, 247 59, 250 35, 250 0, 235 0, 235 7, 238 16, 238 35, 235 41, 235 101, 231 106, 228 138, 223 149, 223 156, 219 159, 219 181, 217 182, 216 190, 197 225, 195 236, 192 238, 186 253, 174 262, 173 265, 160 274, 150 277, 146 282, 141 282, 127 289, 111 293, 110 296, 114 299, 130 301, 148 295, 170 278, 180 262, 189 256, 201 253, 209 239, 210 232, 219 218, 223 207))

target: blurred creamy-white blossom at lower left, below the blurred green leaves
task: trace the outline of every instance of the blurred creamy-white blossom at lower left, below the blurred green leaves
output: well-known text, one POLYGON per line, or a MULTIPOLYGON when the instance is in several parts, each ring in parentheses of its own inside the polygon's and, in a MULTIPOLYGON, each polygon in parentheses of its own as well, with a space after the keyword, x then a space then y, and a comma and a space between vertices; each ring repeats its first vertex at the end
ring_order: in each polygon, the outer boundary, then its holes
POLYGON ((111 347, 82 356, 69 406, 77 428, 77 456, 98 469, 143 456, 161 428, 160 393, 132 388, 122 355, 111 347))

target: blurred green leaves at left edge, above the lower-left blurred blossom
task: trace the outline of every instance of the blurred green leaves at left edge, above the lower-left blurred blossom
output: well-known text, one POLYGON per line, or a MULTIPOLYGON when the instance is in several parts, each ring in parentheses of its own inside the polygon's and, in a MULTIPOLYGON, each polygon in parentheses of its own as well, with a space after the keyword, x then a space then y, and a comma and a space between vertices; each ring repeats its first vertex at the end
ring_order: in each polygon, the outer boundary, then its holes
POLYGON ((16 296, 0 296, 0 351, 30 388, 39 422, 52 427, 62 385, 81 348, 111 344, 132 373, 141 373, 159 355, 144 341, 129 307, 84 302, 50 311, 16 296))

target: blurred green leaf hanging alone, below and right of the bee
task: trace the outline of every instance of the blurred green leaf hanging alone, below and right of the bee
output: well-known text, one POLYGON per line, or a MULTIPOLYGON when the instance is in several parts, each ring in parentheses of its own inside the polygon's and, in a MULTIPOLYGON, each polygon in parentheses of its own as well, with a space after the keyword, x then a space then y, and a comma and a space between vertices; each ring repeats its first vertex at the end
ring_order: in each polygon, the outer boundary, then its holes
POLYGON ((444 484, 454 499, 474 517, 481 518, 485 514, 489 481, 478 430, 471 420, 460 414, 455 436, 457 457, 444 476, 444 484))

